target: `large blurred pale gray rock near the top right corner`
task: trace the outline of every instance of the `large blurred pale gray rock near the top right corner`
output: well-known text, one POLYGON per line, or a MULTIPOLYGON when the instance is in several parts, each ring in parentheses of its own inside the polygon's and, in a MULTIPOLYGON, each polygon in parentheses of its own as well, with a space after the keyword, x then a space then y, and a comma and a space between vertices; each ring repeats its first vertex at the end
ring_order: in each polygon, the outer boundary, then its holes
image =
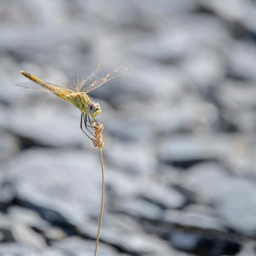
POLYGON ((171 15, 152 37, 147 41, 137 38, 131 48, 138 55, 172 63, 204 46, 226 49, 228 41, 226 27, 214 16, 190 14, 180 18, 171 15))

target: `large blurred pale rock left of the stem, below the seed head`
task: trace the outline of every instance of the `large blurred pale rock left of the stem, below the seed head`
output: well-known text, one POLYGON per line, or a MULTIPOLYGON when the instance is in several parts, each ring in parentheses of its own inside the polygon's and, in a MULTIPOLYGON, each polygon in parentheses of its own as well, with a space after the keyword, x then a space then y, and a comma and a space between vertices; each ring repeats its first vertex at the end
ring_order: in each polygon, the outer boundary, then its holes
POLYGON ((80 223, 86 216, 98 216, 98 156, 83 151, 29 150, 13 159, 8 176, 16 183, 18 202, 50 222, 80 223))

